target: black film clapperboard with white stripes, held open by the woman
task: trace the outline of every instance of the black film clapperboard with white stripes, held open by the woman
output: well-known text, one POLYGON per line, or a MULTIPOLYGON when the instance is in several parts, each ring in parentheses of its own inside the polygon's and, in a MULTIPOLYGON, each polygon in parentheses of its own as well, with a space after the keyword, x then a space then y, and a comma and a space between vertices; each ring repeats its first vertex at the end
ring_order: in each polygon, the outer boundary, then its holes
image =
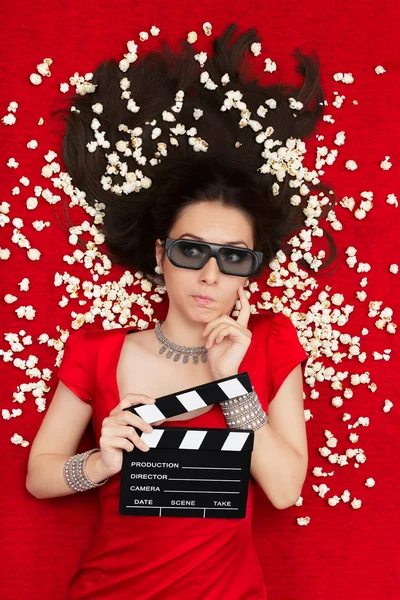
MULTIPOLYGON (((124 410, 148 423, 252 391, 247 372, 124 410)), ((190 420, 188 420, 190 423, 190 420)), ((134 428, 149 446, 123 450, 119 512, 151 517, 244 518, 254 431, 202 427, 134 428)))

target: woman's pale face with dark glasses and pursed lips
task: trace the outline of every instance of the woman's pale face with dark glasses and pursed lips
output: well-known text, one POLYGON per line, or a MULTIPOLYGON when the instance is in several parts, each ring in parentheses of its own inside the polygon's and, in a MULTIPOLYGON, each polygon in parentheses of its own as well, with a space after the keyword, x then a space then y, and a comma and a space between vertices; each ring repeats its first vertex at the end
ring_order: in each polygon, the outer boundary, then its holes
MULTIPOLYGON (((168 237, 202 238, 206 242, 253 250, 253 229, 249 217, 236 208, 217 202, 186 206, 168 237)), ((247 277, 225 275, 219 270, 215 257, 211 257, 199 270, 176 267, 169 261, 160 242, 160 239, 156 242, 156 259, 165 278, 170 306, 173 304, 189 320, 204 323, 223 314, 229 315, 238 300, 239 287, 245 285, 247 277), (194 299, 196 295, 210 296, 213 301, 200 306, 194 299)))

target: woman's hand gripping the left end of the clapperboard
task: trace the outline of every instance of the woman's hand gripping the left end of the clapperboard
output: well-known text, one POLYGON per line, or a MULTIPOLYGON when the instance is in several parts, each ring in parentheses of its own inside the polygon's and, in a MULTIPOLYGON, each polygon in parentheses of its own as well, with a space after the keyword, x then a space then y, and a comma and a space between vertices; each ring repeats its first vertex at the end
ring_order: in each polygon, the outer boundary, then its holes
POLYGON ((121 402, 103 419, 100 437, 101 466, 106 474, 112 477, 122 469, 122 450, 131 452, 135 448, 147 452, 148 445, 140 439, 133 429, 137 427, 150 433, 152 426, 139 415, 123 410, 134 404, 154 404, 155 398, 145 394, 125 394, 121 402))

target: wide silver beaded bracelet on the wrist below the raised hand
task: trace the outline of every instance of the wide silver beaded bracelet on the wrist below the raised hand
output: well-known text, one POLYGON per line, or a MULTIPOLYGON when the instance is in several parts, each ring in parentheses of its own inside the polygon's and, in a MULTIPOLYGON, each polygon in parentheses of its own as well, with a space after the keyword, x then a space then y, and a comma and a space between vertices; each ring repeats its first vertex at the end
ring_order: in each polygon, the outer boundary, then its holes
POLYGON ((254 388, 248 394, 220 402, 220 406, 228 427, 232 429, 255 431, 268 421, 254 388))

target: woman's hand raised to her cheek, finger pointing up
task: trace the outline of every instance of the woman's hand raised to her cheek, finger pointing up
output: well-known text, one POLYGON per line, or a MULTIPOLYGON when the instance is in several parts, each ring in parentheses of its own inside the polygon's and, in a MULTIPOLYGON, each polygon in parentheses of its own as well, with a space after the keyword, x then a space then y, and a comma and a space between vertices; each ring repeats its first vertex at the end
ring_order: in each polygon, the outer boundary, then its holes
POLYGON ((207 337, 208 361, 215 379, 235 375, 239 371, 252 333, 247 329, 250 318, 250 304, 243 286, 238 290, 240 313, 235 321, 228 315, 221 315, 207 323, 203 335, 207 337))

